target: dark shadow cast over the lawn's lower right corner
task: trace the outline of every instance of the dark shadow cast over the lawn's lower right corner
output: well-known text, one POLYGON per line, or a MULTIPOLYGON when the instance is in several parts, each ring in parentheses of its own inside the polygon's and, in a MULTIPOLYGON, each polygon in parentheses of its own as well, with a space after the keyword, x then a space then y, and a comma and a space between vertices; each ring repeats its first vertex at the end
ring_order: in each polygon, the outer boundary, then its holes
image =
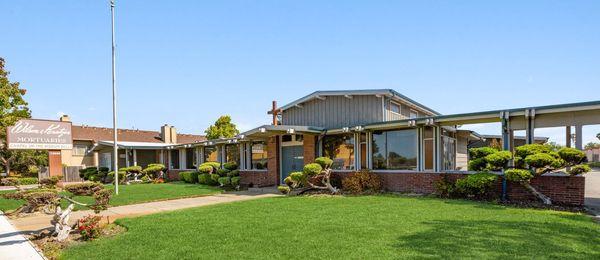
POLYGON ((426 231, 399 237, 393 246, 417 258, 600 259, 598 229, 574 224, 494 220, 422 224, 426 231))

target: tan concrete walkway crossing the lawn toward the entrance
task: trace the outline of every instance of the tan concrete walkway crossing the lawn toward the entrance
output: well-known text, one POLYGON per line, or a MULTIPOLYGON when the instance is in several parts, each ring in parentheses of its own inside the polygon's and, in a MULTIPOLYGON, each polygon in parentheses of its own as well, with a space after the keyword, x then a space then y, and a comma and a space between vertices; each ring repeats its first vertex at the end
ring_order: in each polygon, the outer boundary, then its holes
MULTIPOLYGON (((253 193, 253 192, 235 192, 235 193, 224 193, 205 197, 186 198, 177 200, 166 200, 157 202, 148 202, 141 204, 125 205, 118 207, 111 207, 105 211, 102 211, 99 215, 104 216, 104 222, 113 222, 115 219, 125 217, 135 217, 142 215, 149 215, 165 211, 173 211, 178 209, 186 209, 193 207, 200 207, 206 205, 214 205, 219 203, 244 201, 259 198, 267 198, 279 196, 272 193, 253 193)), ((74 224, 78 219, 94 214, 91 210, 75 211, 71 214, 70 223, 74 224)), ((46 215, 38 213, 29 217, 12 219, 11 222, 17 229, 23 232, 37 232, 42 229, 50 228, 50 220, 52 215, 46 215)), ((0 257, 1 258, 1 257, 0 257)))

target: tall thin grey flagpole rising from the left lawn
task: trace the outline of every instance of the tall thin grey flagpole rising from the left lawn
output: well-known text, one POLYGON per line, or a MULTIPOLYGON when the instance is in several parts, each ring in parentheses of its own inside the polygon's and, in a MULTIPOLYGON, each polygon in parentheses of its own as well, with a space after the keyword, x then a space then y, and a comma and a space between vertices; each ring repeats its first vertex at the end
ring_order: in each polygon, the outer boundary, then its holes
POLYGON ((117 85, 115 70, 115 0, 110 0, 112 27, 112 83, 113 83, 113 171, 115 173, 115 194, 119 195, 119 146, 117 145, 117 85))

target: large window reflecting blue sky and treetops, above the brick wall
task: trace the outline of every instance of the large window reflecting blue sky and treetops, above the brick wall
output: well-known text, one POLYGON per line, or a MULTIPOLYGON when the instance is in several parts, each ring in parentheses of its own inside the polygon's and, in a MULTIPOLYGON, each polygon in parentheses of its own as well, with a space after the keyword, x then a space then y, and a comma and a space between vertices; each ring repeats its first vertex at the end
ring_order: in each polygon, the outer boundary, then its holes
POLYGON ((373 132, 373 169, 416 170, 417 130, 373 132))

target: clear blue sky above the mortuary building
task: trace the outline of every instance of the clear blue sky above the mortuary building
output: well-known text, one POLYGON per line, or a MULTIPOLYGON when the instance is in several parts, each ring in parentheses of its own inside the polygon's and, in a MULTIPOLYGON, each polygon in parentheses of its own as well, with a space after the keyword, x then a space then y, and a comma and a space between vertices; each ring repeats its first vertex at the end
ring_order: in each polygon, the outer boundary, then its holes
MULTIPOLYGON (((334 89, 391 88, 442 114, 599 100, 599 13, 600 1, 117 0, 118 125, 201 134, 229 114, 247 130, 270 122, 272 100, 334 89)), ((34 118, 112 126, 108 0, 0 1, 0 24, 34 118)))

